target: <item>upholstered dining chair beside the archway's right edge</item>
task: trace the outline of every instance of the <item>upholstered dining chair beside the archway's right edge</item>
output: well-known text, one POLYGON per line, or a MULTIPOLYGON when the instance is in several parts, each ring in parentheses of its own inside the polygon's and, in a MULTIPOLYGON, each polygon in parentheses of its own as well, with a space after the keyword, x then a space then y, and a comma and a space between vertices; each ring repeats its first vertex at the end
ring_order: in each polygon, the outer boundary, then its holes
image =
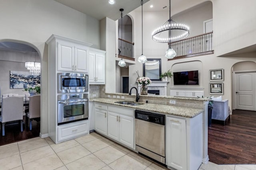
POLYGON ((30 96, 29 98, 29 110, 26 112, 26 125, 29 122, 30 131, 32 130, 33 120, 40 121, 40 95, 30 96))

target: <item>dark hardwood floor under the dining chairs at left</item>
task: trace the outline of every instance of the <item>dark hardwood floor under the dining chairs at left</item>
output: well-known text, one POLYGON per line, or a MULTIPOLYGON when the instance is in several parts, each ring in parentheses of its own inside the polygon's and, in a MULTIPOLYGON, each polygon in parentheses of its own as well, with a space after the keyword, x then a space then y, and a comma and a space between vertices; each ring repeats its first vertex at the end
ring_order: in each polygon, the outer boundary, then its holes
MULTIPOLYGON (((23 121, 25 122, 25 116, 23 116, 23 121)), ((2 130, 0 128, 0 130, 2 130)), ((31 139, 34 137, 39 137, 40 134, 40 122, 32 121, 32 130, 23 124, 23 132, 20 131, 20 124, 17 125, 7 125, 5 127, 5 136, 0 136, 0 146, 9 143, 14 143, 18 141, 23 141, 26 139, 31 139)))

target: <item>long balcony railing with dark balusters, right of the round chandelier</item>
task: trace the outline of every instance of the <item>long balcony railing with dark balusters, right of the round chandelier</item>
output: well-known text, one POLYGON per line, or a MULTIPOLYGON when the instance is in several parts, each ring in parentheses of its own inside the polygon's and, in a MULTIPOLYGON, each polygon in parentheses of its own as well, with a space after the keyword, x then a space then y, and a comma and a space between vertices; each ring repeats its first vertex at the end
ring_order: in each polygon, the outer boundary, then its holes
MULTIPOLYGON (((213 32, 204 33, 171 43, 171 48, 177 53, 174 59, 213 54, 214 50, 212 49, 212 33, 213 32)), ((168 59, 168 61, 174 59, 168 59)))

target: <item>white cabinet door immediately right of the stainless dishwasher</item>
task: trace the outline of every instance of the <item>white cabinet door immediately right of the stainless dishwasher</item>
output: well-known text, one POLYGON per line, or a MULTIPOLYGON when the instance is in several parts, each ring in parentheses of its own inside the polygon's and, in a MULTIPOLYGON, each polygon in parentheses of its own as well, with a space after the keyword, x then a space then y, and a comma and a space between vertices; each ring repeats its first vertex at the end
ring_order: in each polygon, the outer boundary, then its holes
POLYGON ((166 117, 166 164, 186 170, 186 158, 186 120, 166 117))

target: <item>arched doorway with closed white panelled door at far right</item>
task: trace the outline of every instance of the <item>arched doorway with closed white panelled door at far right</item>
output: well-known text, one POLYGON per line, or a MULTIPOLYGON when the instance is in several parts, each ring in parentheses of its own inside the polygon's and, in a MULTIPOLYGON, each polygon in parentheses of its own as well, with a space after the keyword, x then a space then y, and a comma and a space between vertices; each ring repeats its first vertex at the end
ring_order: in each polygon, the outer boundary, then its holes
POLYGON ((232 66, 233 108, 256 111, 256 63, 243 61, 232 66))

